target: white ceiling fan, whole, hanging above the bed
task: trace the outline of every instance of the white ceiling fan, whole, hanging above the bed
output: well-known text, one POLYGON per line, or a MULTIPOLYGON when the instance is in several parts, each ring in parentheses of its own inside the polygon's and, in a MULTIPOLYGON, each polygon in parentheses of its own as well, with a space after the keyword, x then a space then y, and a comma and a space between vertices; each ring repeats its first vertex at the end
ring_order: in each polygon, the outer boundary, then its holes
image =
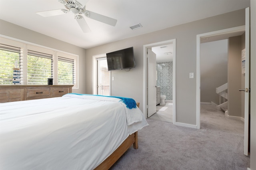
POLYGON ((91 18, 93 20, 97 20, 99 22, 103 22, 103 23, 111 25, 111 26, 116 26, 116 22, 117 22, 116 19, 110 18, 108 16, 104 16, 101 14, 97 14, 95 12, 88 11, 85 9, 85 6, 83 7, 82 4, 80 4, 76 0, 74 0, 74 1, 58 0, 58 1, 61 4, 63 4, 66 9, 42 11, 42 12, 36 12, 36 14, 39 14, 44 17, 48 17, 48 16, 56 16, 56 15, 62 15, 62 14, 66 14, 68 12, 72 12, 75 16, 76 21, 78 22, 79 26, 81 27, 81 29, 84 33, 91 32, 88 24, 86 23, 86 21, 84 19, 84 16, 91 18))

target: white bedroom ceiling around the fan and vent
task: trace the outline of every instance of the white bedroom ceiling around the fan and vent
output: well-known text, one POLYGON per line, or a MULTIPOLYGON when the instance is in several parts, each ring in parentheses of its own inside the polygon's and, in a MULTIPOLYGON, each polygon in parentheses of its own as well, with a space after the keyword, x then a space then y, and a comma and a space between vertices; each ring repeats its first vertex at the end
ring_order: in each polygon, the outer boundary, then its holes
POLYGON ((117 19, 115 27, 86 18, 83 33, 72 13, 42 17, 36 12, 65 9, 58 0, 0 0, 0 19, 85 49, 250 6, 250 0, 78 0, 86 10, 117 19), (142 28, 129 27, 141 24, 142 28))

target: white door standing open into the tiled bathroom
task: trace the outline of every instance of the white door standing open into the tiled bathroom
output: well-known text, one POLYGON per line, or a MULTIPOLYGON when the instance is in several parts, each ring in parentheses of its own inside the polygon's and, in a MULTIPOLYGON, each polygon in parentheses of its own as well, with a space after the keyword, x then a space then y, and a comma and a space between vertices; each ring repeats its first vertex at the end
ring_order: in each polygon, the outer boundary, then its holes
POLYGON ((156 54, 147 49, 148 77, 148 117, 156 113, 156 54))

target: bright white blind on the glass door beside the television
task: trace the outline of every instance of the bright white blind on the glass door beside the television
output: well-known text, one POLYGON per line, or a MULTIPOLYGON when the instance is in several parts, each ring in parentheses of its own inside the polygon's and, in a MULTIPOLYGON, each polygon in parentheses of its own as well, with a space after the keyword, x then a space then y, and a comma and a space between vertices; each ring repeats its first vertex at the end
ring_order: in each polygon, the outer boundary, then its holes
POLYGON ((98 95, 110 95, 110 71, 106 57, 97 59, 98 95))

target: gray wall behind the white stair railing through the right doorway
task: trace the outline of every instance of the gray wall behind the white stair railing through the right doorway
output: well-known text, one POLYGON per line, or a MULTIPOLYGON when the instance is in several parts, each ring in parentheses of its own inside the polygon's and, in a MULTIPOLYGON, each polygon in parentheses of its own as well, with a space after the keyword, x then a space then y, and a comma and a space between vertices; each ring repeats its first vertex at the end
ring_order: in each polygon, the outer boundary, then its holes
POLYGON ((216 87, 228 82, 228 40, 200 44, 201 102, 219 105, 216 87))

